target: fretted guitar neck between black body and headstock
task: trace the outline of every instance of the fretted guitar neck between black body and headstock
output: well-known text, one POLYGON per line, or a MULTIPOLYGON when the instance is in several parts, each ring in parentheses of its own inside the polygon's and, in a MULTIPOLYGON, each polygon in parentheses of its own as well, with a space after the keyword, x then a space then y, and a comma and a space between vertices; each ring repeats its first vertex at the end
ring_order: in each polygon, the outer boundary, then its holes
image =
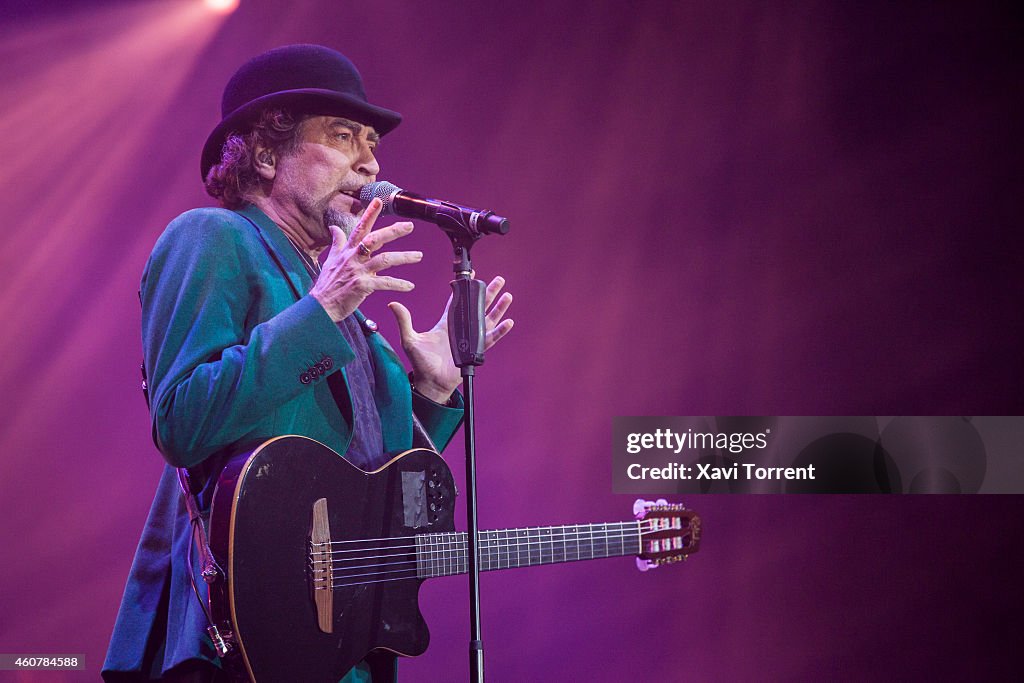
MULTIPOLYGON (((641 522, 568 524, 479 531, 480 571, 577 562, 640 553, 641 522)), ((469 553, 465 531, 416 537, 417 577, 466 573, 469 553)))

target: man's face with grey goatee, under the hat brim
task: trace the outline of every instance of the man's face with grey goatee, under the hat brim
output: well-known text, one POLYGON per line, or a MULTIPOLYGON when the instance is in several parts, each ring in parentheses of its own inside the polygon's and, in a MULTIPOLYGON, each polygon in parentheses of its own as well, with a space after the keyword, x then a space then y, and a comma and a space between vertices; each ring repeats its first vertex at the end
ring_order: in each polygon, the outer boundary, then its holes
POLYGON ((273 195, 314 224, 314 237, 331 243, 328 225, 346 234, 355 227, 362 205, 350 195, 380 172, 374 150, 379 136, 370 126, 338 117, 316 116, 299 127, 298 146, 278 160, 273 195))

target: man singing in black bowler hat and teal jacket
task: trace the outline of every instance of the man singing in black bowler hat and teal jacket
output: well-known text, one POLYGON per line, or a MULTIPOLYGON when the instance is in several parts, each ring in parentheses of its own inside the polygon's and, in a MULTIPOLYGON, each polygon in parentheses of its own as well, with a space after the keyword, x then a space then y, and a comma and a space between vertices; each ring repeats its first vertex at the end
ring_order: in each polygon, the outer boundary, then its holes
MULTIPOLYGON (((356 199, 379 172, 378 139, 400 116, 369 103, 355 67, 317 45, 243 65, 221 110, 202 174, 223 208, 175 218, 142 274, 153 436, 168 466, 103 665, 110 681, 223 677, 193 592, 200 553, 189 566, 193 535, 174 468, 188 469, 205 514, 226 460, 268 438, 308 436, 373 470, 412 446, 414 414, 439 447, 462 420, 445 314, 418 333, 409 310, 389 304, 412 364, 407 376, 358 311, 375 292, 412 290, 392 273, 422 258, 390 246, 412 223, 373 229, 379 200, 356 199)), ((486 288, 487 347, 512 329, 503 286, 495 278, 486 288)), ((361 663, 342 680, 370 680, 371 670, 377 680, 394 667, 361 663)))

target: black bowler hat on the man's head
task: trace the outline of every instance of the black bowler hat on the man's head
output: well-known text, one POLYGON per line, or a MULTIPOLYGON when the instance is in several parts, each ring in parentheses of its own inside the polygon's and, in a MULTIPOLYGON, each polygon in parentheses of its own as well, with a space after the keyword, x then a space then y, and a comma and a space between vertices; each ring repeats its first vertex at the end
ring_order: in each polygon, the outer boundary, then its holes
POLYGON ((295 114, 338 116, 373 126, 381 135, 401 123, 401 115, 367 101, 362 78, 341 52, 323 45, 286 45, 242 65, 224 87, 221 122, 203 146, 203 178, 220 163, 232 131, 242 131, 269 108, 295 114))

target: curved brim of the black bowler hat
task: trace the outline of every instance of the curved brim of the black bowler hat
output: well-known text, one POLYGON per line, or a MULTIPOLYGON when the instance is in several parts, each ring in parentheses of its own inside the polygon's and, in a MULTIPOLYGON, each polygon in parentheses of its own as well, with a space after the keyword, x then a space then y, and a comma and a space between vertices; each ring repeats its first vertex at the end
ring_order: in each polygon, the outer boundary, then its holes
POLYGON ((267 109, 286 109, 293 114, 312 114, 318 116, 337 116, 351 119, 357 123, 373 126, 378 134, 384 135, 394 130, 401 123, 401 115, 383 106, 376 106, 335 90, 303 88, 300 90, 283 90, 271 92, 228 114, 217 124, 203 145, 203 157, 200 171, 203 179, 215 164, 220 162, 220 153, 224 140, 234 131, 243 131, 267 109))

